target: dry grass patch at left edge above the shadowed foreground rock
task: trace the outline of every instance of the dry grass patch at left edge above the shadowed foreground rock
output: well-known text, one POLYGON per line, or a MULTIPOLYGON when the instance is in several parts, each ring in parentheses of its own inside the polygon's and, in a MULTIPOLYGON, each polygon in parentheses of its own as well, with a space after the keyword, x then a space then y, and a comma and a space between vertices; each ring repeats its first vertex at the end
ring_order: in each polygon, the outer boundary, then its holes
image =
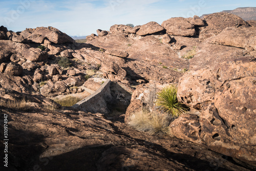
POLYGON ((26 98, 22 98, 21 100, 3 100, 0 99, 0 106, 4 106, 5 108, 20 110, 20 111, 27 111, 30 109, 30 105, 28 102, 31 102, 30 100, 26 100, 26 98))

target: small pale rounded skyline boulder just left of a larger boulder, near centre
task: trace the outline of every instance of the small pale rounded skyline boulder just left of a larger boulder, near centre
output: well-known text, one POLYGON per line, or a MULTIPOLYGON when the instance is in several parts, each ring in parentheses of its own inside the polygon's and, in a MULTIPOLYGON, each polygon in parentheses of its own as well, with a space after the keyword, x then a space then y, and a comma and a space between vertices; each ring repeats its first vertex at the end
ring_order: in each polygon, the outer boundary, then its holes
POLYGON ((150 22, 145 25, 142 25, 140 27, 139 31, 136 32, 136 34, 140 35, 140 36, 145 36, 148 34, 158 33, 163 30, 164 30, 164 28, 162 26, 160 26, 158 23, 150 22))

